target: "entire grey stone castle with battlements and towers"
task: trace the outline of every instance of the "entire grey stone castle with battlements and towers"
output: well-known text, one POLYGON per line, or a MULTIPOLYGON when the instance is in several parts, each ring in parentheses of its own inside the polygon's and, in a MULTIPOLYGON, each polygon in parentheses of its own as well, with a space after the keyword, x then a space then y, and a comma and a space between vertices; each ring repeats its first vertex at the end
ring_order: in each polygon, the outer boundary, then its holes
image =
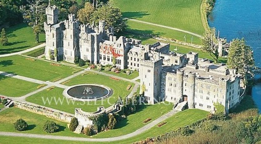
POLYGON ((115 64, 120 69, 139 71, 141 92, 148 103, 169 101, 174 107, 215 111, 214 103, 225 111, 240 100, 240 77, 226 66, 208 64, 198 53, 179 54, 170 44, 157 42, 142 45, 140 40, 114 36, 113 28, 105 30, 105 21, 81 24, 75 15, 59 22, 58 8, 48 6, 45 57, 74 63, 75 57, 91 64, 115 64))

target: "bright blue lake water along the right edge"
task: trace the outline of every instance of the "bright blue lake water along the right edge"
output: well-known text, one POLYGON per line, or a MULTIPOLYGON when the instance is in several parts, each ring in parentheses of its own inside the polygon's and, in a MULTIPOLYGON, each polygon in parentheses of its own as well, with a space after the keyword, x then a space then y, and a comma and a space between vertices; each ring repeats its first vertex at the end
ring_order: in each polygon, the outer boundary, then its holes
MULTIPOLYGON (((261 0, 216 0, 208 23, 228 41, 245 38, 254 50, 256 65, 261 67, 261 0)), ((253 87, 252 96, 261 110, 261 83, 253 87)))

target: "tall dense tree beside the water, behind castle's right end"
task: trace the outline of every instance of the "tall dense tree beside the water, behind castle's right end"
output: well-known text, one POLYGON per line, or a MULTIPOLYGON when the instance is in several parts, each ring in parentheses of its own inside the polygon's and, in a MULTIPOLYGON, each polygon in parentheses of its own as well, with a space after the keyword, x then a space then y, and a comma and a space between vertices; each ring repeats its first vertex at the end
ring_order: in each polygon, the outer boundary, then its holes
POLYGON ((245 39, 233 39, 228 52, 228 68, 236 69, 236 72, 244 78, 245 85, 249 85, 249 78, 253 77, 255 66, 253 50, 246 44, 245 39))

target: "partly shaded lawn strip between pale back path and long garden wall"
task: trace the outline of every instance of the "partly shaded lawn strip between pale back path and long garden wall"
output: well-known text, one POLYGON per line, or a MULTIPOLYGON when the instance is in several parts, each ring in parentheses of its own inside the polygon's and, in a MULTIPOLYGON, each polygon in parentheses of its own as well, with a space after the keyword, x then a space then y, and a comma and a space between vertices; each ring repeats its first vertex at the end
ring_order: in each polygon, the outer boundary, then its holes
MULTIPOLYGON (((156 35, 161 37, 167 37, 171 39, 177 39, 179 41, 184 42, 184 36, 186 35, 186 42, 191 43, 191 38, 193 35, 188 33, 183 33, 180 31, 168 29, 168 28, 161 28, 149 24, 143 24, 134 21, 128 21, 128 28, 125 30, 126 33, 132 33, 137 35, 156 35)), ((201 39, 197 36, 193 36, 193 44, 201 44, 201 39)))

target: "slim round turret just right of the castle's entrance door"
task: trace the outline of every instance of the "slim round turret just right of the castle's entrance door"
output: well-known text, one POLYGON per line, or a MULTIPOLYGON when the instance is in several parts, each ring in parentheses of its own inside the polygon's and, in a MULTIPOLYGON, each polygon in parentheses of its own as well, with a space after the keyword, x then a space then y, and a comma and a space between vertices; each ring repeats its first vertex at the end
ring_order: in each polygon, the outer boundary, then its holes
POLYGON ((195 79, 196 79, 196 73, 195 72, 189 72, 188 73, 188 95, 187 95, 187 104, 189 109, 195 108, 195 79))

